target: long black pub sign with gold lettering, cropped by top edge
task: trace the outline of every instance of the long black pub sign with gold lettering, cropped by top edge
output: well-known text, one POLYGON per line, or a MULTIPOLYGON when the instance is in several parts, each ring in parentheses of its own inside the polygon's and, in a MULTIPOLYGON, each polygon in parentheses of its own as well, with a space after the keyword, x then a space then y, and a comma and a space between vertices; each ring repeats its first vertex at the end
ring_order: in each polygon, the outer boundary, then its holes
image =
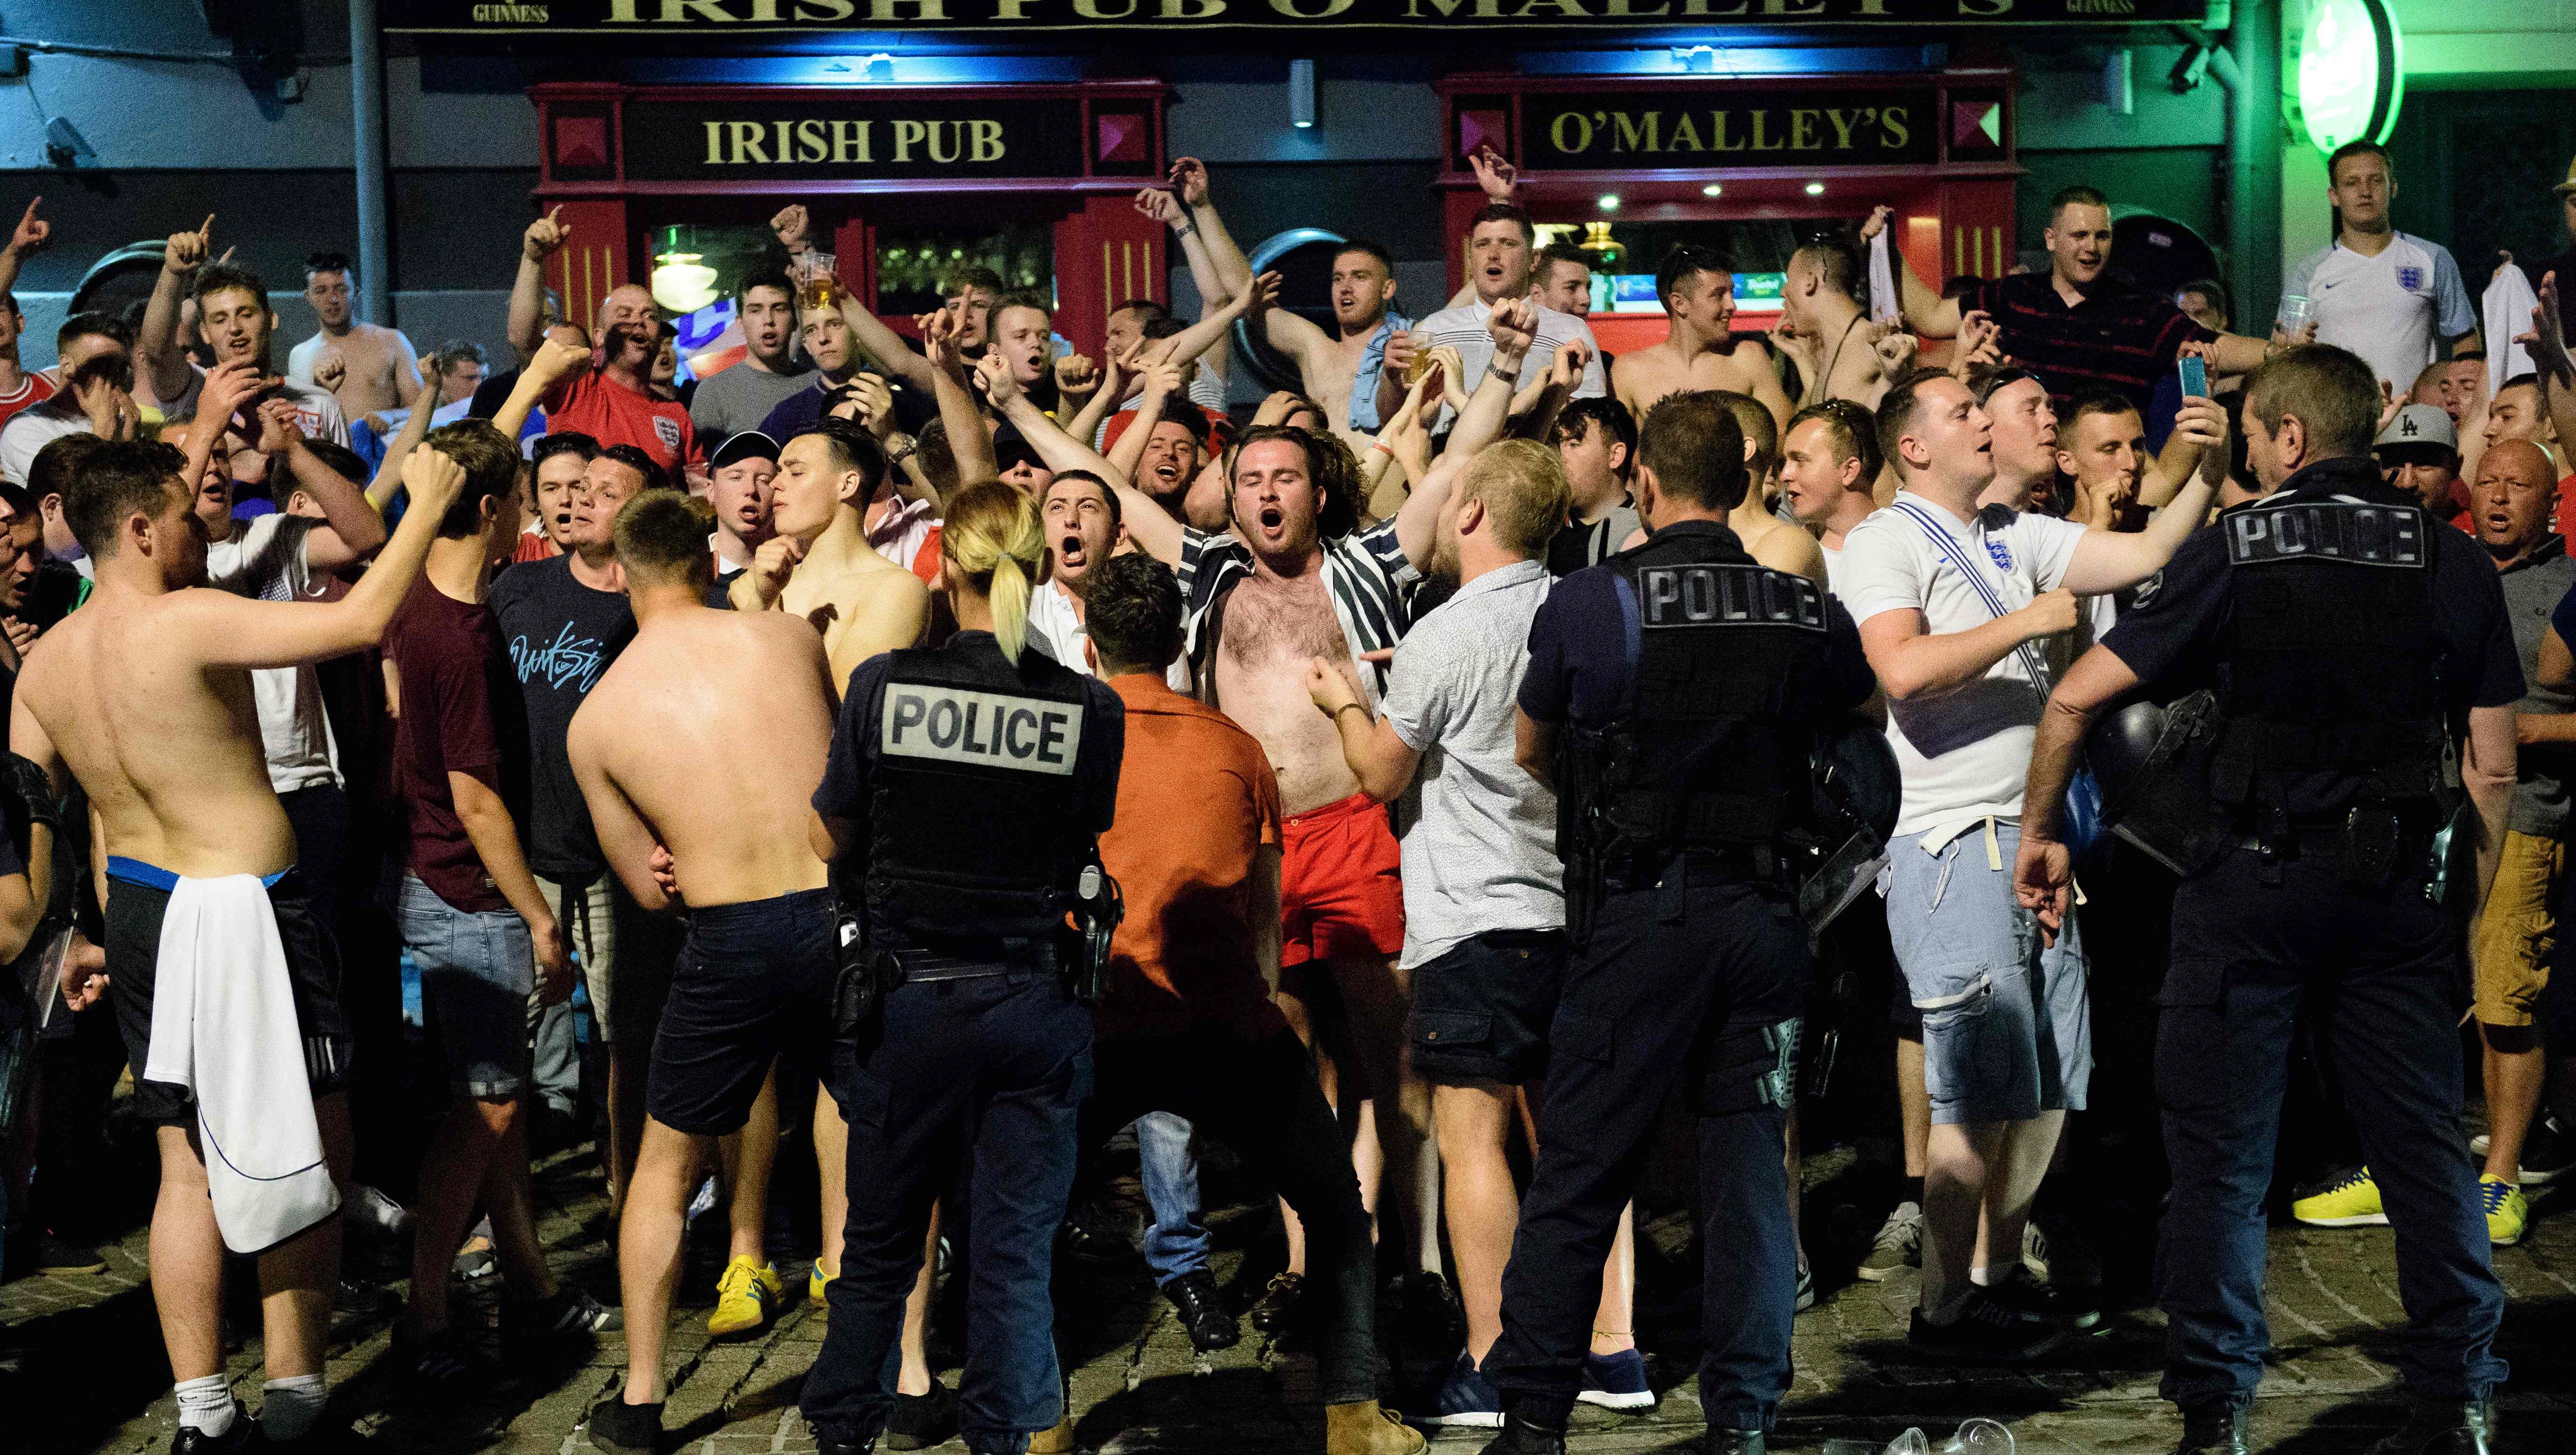
POLYGON ((829 31, 1631 31, 1728 26, 2172 26, 2208 0, 404 0, 397 36, 829 31))

